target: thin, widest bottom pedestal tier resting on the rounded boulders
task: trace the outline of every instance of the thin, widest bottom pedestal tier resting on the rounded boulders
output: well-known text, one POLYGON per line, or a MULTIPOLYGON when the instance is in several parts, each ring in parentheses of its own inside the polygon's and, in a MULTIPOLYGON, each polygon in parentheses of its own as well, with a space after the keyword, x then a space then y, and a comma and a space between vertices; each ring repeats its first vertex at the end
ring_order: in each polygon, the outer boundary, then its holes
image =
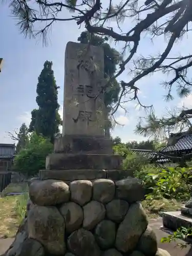
POLYGON ((127 177, 133 177, 133 170, 119 169, 60 169, 60 170, 39 170, 39 178, 41 180, 56 179, 63 181, 72 180, 95 180, 95 179, 111 179, 121 180, 127 177))

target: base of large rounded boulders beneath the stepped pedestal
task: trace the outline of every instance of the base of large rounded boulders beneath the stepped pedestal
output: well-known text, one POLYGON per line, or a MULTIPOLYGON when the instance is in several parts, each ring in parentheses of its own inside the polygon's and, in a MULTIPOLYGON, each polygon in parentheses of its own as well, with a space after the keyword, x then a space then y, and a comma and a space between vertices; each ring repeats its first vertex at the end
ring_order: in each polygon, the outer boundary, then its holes
POLYGON ((169 256, 157 248, 137 178, 32 179, 26 218, 5 256, 169 256))

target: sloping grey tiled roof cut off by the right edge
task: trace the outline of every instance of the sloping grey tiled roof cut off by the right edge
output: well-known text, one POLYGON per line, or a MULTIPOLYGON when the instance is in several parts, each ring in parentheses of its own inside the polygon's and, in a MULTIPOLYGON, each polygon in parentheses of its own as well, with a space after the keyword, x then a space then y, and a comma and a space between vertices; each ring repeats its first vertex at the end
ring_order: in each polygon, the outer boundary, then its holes
POLYGON ((186 151, 192 150, 192 134, 186 135, 179 139, 175 145, 164 147, 160 152, 173 152, 173 151, 186 151))

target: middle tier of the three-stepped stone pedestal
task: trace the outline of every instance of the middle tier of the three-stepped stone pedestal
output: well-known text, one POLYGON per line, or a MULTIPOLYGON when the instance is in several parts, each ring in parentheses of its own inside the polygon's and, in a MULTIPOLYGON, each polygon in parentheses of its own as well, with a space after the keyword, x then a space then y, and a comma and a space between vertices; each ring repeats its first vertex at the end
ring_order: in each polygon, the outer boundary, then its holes
POLYGON ((118 155, 53 153, 46 158, 46 169, 121 169, 121 163, 118 155))

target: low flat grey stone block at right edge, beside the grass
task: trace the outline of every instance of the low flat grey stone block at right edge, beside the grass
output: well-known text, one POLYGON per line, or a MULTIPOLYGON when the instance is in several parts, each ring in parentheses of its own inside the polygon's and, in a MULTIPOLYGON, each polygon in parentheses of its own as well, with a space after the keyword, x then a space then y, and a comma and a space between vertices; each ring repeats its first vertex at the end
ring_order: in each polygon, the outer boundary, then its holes
POLYGON ((183 216, 181 211, 162 212, 163 226, 176 231, 180 227, 192 227, 192 218, 183 216))

